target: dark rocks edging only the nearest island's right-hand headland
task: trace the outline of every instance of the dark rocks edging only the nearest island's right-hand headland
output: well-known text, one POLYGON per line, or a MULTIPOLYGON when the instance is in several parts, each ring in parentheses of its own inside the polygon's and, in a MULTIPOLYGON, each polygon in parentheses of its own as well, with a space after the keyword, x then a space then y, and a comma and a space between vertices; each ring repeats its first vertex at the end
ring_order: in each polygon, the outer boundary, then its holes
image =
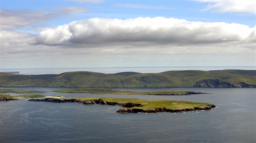
POLYGON ((167 108, 155 108, 155 109, 143 109, 143 108, 121 108, 117 113, 161 113, 161 112, 170 112, 170 113, 178 113, 178 112, 189 112, 189 111, 197 111, 197 110, 210 110, 215 108, 216 106, 213 104, 205 105, 202 107, 194 107, 194 108, 186 108, 186 109, 167 109, 167 108))

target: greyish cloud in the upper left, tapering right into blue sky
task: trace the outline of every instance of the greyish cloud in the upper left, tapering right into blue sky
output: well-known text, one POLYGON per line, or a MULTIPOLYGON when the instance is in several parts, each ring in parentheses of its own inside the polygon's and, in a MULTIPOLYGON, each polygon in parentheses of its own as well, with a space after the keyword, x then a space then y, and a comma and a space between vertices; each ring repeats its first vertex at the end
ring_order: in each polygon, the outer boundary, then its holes
POLYGON ((54 9, 23 9, 23 10, 0 10, 0 29, 16 29, 33 23, 49 21, 57 17, 82 13, 86 8, 75 6, 64 6, 54 9))

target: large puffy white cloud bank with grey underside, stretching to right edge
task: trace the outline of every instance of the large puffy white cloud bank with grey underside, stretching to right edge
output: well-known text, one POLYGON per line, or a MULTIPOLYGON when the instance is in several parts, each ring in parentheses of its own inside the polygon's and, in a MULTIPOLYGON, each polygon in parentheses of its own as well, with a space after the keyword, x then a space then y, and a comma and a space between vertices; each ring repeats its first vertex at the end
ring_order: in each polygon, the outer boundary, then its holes
MULTIPOLYGON (((194 22, 174 18, 104 19, 73 21, 48 29, 30 44, 95 47, 115 45, 225 45, 255 43, 255 27, 238 23, 194 22)), ((247 46, 249 46, 247 45, 247 46)), ((231 46, 231 45, 230 45, 231 46)))

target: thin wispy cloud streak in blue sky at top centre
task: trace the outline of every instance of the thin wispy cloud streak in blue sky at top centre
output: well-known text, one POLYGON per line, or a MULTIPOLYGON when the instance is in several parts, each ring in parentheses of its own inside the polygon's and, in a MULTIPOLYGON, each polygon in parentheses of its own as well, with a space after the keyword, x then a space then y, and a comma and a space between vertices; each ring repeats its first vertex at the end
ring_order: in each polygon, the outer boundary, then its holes
POLYGON ((165 6, 148 6, 142 4, 116 4, 115 6, 124 8, 171 9, 165 6))

